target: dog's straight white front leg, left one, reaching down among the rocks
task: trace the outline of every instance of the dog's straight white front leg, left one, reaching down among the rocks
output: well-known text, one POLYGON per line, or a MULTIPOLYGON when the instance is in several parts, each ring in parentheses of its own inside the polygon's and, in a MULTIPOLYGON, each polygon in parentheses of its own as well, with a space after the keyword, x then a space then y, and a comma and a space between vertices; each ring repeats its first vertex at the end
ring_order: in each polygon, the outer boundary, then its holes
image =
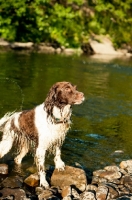
POLYGON ((46 181, 46 174, 45 174, 45 168, 44 168, 45 153, 46 153, 45 149, 38 147, 36 149, 35 162, 37 165, 38 174, 40 176, 40 186, 44 188, 48 188, 49 184, 46 181))

